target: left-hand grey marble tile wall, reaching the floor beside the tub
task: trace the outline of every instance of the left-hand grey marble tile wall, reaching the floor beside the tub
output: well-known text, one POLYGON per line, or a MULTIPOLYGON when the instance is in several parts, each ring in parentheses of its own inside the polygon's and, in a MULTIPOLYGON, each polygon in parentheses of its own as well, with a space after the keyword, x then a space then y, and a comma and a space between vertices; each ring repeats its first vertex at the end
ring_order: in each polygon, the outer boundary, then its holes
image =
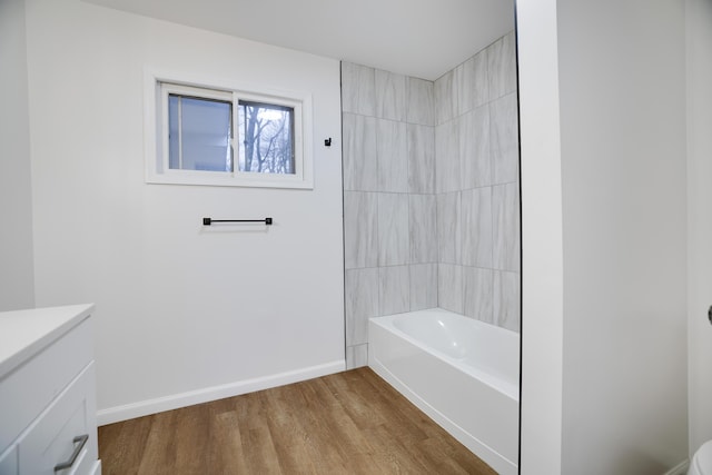
POLYGON ((368 318, 437 307, 434 85, 342 65, 347 367, 368 318))

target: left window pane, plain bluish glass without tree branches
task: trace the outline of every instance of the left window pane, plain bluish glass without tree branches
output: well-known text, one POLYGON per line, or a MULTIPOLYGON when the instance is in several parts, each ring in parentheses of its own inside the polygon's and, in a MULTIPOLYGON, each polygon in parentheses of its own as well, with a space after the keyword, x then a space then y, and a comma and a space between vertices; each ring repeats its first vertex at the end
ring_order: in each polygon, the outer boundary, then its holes
POLYGON ((169 168, 233 171, 231 116, 231 102, 170 93, 169 168))

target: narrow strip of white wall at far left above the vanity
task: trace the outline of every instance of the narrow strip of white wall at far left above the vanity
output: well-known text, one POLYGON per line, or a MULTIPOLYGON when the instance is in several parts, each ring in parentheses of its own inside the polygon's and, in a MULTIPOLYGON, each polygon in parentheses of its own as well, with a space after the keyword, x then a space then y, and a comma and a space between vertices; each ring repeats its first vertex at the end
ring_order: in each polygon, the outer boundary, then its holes
POLYGON ((0 1, 0 311, 34 305, 24 1, 0 1))

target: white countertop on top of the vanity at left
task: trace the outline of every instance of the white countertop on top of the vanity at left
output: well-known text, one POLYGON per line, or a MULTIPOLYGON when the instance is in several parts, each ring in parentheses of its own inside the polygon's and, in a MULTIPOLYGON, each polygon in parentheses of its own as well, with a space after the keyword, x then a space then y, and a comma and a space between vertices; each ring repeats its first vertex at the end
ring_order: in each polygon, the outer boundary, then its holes
POLYGON ((0 313, 0 379, 93 310, 93 304, 0 313))

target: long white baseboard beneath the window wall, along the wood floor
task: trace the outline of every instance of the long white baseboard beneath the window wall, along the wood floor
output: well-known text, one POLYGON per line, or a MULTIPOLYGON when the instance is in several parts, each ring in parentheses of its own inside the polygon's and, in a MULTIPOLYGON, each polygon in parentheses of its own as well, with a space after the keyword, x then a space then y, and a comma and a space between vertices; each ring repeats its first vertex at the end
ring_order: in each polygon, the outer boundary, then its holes
POLYGON ((253 379, 245 379, 202 389, 189 390, 187 393, 172 394, 170 396, 157 397, 154 399, 139 400, 137 403, 122 406, 109 407, 97 412, 97 424, 100 426, 118 423, 120 420, 132 419, 164 410, 177 409, 179 407, 192 406, 194 404, 207 403, 222 399, 225 397, 239 396, 240 394, 268 389, 270 387, 284 386, 286 384, 298 383, 306 379, 317 378, 334 373, 343 372, 346 368, 346 360, 339 359, 323 365, 295 369, 276 375, 261 376, 253 379))

